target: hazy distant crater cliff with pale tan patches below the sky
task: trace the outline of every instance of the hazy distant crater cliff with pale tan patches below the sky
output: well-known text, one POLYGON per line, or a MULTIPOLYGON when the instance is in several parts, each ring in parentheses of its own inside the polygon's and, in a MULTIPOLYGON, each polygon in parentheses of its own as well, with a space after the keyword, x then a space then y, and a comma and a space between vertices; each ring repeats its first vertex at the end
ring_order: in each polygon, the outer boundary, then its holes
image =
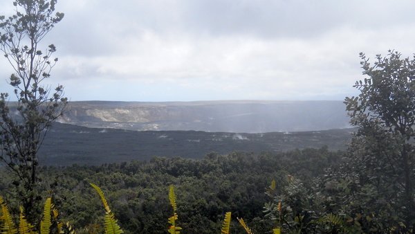
POLYGON ((349 127, 341 101, 71 102, 60 121, 138 131, 256 133, 349 127))

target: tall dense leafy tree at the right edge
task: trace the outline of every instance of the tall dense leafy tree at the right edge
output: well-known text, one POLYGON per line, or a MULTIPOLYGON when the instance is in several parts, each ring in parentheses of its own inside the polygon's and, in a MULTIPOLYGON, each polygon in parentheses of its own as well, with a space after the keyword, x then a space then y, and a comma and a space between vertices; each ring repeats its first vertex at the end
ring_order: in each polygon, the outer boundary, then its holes
POLYGON ((389 51, 386 57, 376 55, 373 65, 365 54, 360 57, 369 78, 356 82, 358 97, 345 100, 351 124, 358 127, 346 168, 356 172, 360 188, 376 197, 367 203, 376 206, 374 213, 384 210, 394 227, 413 230, 415 56, 401 59, 400 53, 389 51))

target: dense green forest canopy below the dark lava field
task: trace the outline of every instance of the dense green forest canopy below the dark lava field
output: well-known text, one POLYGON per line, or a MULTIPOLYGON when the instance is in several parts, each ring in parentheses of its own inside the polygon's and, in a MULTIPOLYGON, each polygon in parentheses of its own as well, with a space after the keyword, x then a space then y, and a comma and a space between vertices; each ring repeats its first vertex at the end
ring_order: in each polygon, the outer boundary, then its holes
MULTIPOLYGON (((166 233, 171 215, 168 191, 174 186, 178 224, 183 233, 218 233, 223 215, 231 211, 231 233, 242 233, 236 217, 246 220, 255 233, 268 233, 275 222, 264 217, 264 204, 271 201, 266 188, 277 181, 277 190, 288 184, 288 175, 304 181, 337 165, 342 152, 327 147, 285 153, 250 154, 214 152, 201 160, 154 157, 150 161, 105 163, 102 166, 72 165, 40 168, 45 196, 52 196, 61 219, 77 229, 101 224, 100 198, 89 183, 104 191, 124 233, 166 233)), ((12 179, 4 178, 0 190, 12 212, 18 212, 12 179)))

